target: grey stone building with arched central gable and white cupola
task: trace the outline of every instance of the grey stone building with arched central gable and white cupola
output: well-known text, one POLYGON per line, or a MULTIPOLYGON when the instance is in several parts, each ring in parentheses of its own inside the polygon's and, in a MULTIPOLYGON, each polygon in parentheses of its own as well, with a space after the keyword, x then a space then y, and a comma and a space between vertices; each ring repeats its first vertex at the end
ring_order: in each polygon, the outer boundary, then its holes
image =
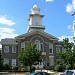
POLYGON ((61 49, 57 44, 58 38, 46 33, 45 26, 42 25, 40 9, 34 5, 31 14, 28 16, 29 26, 27 33, 19 35, 14 39, 6 38, 1 40, 2 58, 4 64, 11 66, 21 66, 17 57, 21 50, 29 43, 35 43, 36 48, 42 52, 42 62, 38 64, 39 68, 44 66, 54 66, 56 50, 61 49))

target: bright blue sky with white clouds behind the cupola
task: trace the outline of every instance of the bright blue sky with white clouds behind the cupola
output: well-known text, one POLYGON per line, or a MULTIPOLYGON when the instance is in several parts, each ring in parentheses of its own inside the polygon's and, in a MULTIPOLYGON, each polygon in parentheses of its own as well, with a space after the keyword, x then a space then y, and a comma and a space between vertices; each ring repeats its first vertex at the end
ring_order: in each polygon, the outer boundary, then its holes
POLYGON ((63 40, 73 41, 75 0, 0 0, 0 40, 14 38, 27 32, 28 15, 36 3, 45 32, 63 40))

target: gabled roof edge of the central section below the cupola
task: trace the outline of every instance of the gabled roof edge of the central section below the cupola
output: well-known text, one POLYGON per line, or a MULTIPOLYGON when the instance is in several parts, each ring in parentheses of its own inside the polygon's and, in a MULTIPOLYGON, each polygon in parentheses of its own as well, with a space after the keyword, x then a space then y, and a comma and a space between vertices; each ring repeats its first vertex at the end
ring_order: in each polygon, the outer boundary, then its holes
POLYGON ((25 39, 26 37, 28 36, 31 36, 31 35, 35 35, 35 34, 39 34, 39 35, 42 35, 50 40, 59 40, 57 37, 51 35, 51 34, 48 34, 44 31, 31 31, 31 32, 28 32, 28 33, 25 33, 25 34, 22 34, 20 36, 17 36, 15 37, 16 39, 25 39))

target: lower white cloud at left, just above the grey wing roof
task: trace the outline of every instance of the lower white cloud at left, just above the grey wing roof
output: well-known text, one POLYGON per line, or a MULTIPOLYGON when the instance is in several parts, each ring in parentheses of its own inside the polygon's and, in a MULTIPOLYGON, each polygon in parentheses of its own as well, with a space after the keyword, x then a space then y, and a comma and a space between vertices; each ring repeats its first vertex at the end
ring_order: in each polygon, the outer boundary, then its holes
POLYGON ((0 28, 0 40, 4 38, 14 38, 18 36, 15 33, 15 29, 12 28, 0 28))

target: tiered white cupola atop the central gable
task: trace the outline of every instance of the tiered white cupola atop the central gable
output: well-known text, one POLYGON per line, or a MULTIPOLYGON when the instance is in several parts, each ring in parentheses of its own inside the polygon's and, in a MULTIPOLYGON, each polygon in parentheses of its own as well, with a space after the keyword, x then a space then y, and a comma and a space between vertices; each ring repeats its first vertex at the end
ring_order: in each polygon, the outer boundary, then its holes
POLYGON ((29 26, 28 26, 27 32, 31 32, 35 30, 44 31, 45 26, 42 25, 43 17, 44 15, 40 14, 40 9, 35 4, 31 8, 31 14, 28 16, 29 26))

